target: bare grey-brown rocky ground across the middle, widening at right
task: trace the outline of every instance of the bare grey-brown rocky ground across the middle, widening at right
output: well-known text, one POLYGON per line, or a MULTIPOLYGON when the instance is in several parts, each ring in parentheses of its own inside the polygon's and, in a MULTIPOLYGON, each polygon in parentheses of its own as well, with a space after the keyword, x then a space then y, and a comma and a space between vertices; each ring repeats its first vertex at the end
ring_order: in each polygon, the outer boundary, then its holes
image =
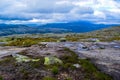
MULTIPOLYGON (((43 42, 27 48, 0 47, 0 58, 15 53, 33 57, 51 55, 61 57, 67 54, 62 50, 64 47, 75 51, 80 58, 90 58, 101 71, 110 74, 114 80, 120 79, 120 42, 43 42)), ((64 71, 63 73, 66 74, 64 71)))

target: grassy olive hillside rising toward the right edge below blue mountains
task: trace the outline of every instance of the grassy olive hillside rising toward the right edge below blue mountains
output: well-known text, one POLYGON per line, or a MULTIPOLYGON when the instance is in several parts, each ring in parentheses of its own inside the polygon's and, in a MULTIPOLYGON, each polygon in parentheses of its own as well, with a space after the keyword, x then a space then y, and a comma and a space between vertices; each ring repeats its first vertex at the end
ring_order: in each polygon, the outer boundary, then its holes
POLYGON ((100 41, 120 41, 120 26, 114 26, 97 31, 73 34, 66 37, 69 41, 92 41, 98 39, 100 41))

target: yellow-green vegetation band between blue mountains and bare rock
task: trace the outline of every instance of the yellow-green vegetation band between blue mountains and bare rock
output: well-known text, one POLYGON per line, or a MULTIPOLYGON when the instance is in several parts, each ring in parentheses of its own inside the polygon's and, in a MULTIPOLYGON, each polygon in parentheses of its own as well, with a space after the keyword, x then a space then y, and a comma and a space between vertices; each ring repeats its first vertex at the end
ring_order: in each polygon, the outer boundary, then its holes
POLYGON ((0 38, 0 42, 8 42, 7 46, 23 46, 29 47, 39 42, 79 42, 92 41, 90 39, 98 39, 99 41, 120 41, 120 27, 112 27, 108 29, 98 30, 88 33, 71 33, 71 34, 36 34, 36 35, 21 35, 0 38))

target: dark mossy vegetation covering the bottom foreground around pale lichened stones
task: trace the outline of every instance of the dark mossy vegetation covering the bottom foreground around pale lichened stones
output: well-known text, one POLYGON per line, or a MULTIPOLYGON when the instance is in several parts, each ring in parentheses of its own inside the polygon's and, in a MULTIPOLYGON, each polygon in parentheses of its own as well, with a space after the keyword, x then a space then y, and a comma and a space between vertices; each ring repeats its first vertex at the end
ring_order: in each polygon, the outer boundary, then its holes
POLYGON ((62 64, 45 65, 45 57, 36 57, 40 59, 36 62, 17 62, 12 56, 5 57, 0 60, 1 80, 112 80, 112 77, 99 71, 89 59, 79 59, 76 53, 68 48, 64 48, 63 51, 66 55, 59 57, 62 64), (74 64, 81 67, 75 67, 74 64))

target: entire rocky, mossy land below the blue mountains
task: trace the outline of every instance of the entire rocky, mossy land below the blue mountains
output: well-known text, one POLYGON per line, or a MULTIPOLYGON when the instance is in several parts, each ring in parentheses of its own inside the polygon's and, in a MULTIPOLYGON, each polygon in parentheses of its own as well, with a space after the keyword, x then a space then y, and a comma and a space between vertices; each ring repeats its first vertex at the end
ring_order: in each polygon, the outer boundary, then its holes
POLYGON ((119 75, 120 27, 0 37, 1 80, 119 80, 119 75))

